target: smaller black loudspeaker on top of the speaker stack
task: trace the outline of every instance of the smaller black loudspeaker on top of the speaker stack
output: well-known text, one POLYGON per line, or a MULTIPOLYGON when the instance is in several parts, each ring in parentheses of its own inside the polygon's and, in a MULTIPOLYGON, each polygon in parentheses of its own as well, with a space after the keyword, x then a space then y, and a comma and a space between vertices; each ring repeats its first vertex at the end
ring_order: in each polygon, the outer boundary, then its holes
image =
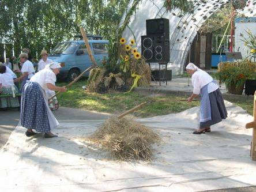
POLYGON ((152 20, 146 20, 146 35, 152 35, 155 33, 164 33, 169 36, 169 20, 167 18, 154 18, 152 20))

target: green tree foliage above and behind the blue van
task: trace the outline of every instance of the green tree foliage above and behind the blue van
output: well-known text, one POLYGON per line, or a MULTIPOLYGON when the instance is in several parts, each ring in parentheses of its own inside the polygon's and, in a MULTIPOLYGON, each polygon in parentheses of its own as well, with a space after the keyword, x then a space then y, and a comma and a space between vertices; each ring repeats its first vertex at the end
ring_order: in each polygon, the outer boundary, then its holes
MULTIPOLYGON (((50 51, 59 42, 80 34, 80 26, 87 33, 101 35, 116 42, 119 22, 127 5, 132 3, 134 14, 142 0, 5 0, 0 3, 0 38, 2 45, 14 48, 15 55, 27 47, 36 57, 43 48, 50 51)), ((179 8, 191 11, 191 1, 163 0, 170 11, 179 8)), ((198 0, 201 1, 201 0, 198 0)), ((127 18, 129 21, 129 18, 127 18)), ((1 47, 0 45, 0 50, 1 47)), ((1 53, 0 53, 1 54, 1 53)), ((12 54, 12 51, 8 51, 12 54)), ((10 57, 11 55, 7 55, 10 57)))

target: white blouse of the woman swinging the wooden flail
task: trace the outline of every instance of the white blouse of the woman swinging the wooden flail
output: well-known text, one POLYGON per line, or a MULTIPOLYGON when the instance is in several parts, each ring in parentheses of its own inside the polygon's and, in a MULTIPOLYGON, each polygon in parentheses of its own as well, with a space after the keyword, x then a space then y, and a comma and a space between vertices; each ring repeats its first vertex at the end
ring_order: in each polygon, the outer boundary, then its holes
POLYGON ((31 79, 32 82, 37 82, 44 91, 48 91, 50 89, 47 88, 47 83, 55 85, 56 76, 55 73, 48 68, 44 68, 43 70, 38 71, 31 79))

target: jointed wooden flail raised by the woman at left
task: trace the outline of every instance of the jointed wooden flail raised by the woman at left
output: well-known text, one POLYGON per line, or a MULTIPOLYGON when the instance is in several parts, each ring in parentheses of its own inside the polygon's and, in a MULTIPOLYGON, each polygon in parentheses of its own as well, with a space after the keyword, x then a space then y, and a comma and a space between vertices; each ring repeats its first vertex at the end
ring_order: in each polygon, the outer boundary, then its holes
MULTIPOLYGON (((97 66, 97 63, 95 62, 95 59, 93 58, 92 50, 91 50, 90 44, 89 44, 89 42, 88 42, 88 39, 87 39, 87 37, 86 37, 86 33, 85 33, 85 31, 84 31, 84 28, 80 27, 80 31, 81 31, 81 34, 82 34, 82 38, 84 39, 84 43, 85 43, 85 46, 86 46, 86 48, 87 48, 88 55, 89 55, 89 57, 90 57, 90 59, 91 59, 93 65, 92 65, 91 67, 87 68, 86 70, 84 70, 77 78, 75 78, 73 81, 71 81, 71 82, 66 86, 66 88, 69 87, 69 86, 71 86, 71 85, 73 85, 74 82, 77 82, 77 81, 83 76, 83 74, 84 74, 86 71, 89 71, 89 70, 91 70, 91 69, 93 69, 93 68, 95 68, 95 67, 97 66)), ((53 97, 57 96, 59 93, 60 93, 60 92, 58 91, 54 96, 51 96, 48 100, 51 100, 53 97)))

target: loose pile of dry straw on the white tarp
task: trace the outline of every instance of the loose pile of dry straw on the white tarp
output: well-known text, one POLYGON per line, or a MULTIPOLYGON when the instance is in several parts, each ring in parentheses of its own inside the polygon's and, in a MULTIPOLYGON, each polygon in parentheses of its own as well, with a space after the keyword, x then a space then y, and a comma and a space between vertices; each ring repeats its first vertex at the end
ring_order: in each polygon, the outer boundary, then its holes
POLYGON ((159 135, 132 118, 112 117, 90 137, 115 160, 152 160, 152 144, 159 135))

